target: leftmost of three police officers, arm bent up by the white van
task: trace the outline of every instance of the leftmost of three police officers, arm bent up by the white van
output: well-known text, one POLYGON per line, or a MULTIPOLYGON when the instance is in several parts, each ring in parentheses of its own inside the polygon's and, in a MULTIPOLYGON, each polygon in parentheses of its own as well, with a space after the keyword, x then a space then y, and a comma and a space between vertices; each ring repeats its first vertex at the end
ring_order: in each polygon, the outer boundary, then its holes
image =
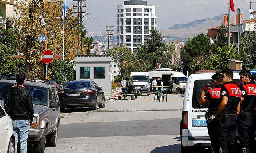
MULTIPOLYGON (((212 76, 212 82, 214 84, 214 88, 211 88, 210 84, 206 84, 203 87, 200 104, 206 104, 208 101, 210 102, 209 109, 208 109, 208 116, 206 118, 209 118, 209 116, 212 116, 216 113, 218 106, 220 104, 220 90, 223 86, 222 80, 221 80, 221 74, 216 73, 212 76), (208 93, 205 94, 205 91, 208 90, 208 93)), ((207 115, 207 114, 206 114, 207 115)), ((208 134, 210 136, 211 145, 212 145, 212 153, 218 152, 218 137, 217 137, 217 131, 216 131, 216 120, 210 121, 207 120, 207 129, 208 134)))

